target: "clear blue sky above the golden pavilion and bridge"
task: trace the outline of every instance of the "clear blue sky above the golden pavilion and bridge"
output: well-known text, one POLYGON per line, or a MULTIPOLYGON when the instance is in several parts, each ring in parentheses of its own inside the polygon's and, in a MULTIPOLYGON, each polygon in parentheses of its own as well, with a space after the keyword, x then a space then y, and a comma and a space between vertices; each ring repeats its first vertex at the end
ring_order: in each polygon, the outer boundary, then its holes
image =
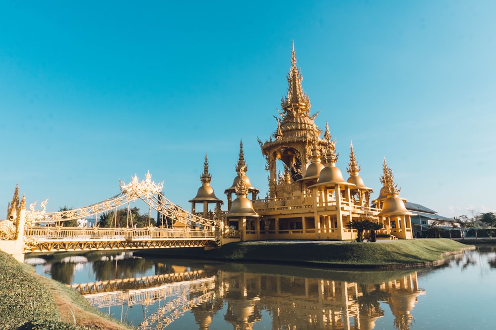
POLYGON ((0 218, 83 207, 119 179, 164 181, 190 209, 212 187, 267 190, 257 137, 277 128, 295 42, 311 113, 365 184, 444 216, 496 211, 496 1, 1 1, 0 218))

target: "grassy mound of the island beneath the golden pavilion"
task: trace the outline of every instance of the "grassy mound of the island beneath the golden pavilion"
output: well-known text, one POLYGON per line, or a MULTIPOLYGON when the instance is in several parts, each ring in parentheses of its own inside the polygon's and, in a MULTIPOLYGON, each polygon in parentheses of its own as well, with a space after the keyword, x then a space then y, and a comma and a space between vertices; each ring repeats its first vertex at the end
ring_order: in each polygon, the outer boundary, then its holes
POLYGON ((314 265, 339 268, 409 268, 430 266, 443 255, 467 249, 451 239, 409 239, 376 243, 259 241, 230 243, 219 249, 182 248, 139 251, 136 254, 314 265))

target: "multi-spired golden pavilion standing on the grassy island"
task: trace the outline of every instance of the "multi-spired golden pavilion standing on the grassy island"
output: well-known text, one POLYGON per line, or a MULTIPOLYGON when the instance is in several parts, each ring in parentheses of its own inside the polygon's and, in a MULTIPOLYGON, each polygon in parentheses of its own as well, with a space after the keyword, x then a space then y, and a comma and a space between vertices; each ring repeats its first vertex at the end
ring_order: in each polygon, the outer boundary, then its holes
POLYGON ((208 162, 205 157, 202 187, 191 199, 192 213, 196 203, 202 203, 203 216, 212 217, 223 231, 223 242, 273 239, 333 239, 352 240, 357 230, 349 222, 369 220, 382 224, 377 237, 388 239, 413 238, 410 217, 415 215, 405 207, 406 199, 399 197, 392 171, 385 159, 381 177, 382 188, 376 199, 372 189, 360 177, 353 144, 345 179, 338 168, 336 141, 328 125, 321 130, 310 115, 310 99, 302 88, 302 74, 297 67, 295 47, 291 54, 291 69, 287 75, 288 92, 282 98, 277 127, 260 148, 268 170, 268 192, 259 198, 247 176, 248 166, 240 143, 237 176, 225 190, 228 210, 221 211, 221 201, 210 187, 208 162), (214 212, 207 212, 215 203, 214 212), (207 214, 208 213, 208 214, 207 214))

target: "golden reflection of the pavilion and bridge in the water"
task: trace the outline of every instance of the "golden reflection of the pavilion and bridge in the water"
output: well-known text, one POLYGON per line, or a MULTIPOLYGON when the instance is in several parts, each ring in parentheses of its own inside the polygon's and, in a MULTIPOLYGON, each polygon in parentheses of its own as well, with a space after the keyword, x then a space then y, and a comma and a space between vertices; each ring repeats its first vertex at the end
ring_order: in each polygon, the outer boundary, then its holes
POLYGON ((222 322, 226 329, 227 322, 232 325, 229 328, 248 330, 262 322, 271 329, 369 330, 387 307, 394 318, 391 327, 406 330, 413 322, 411 311, 417 297, 425 293, 418 286, 416 272, 368 272, 357 282, 342 280, 339 272, 328 274, 338 275, 331 280, 209 266, 203 271, 72 287, 81 290, 93 306, 118 320, 139 324, 140 330, 176 328, 186 313, 193 314, 198 329, 209 329, 213 322, 216 326, 222 322), (138 308, 142 316, 132 313, 131 317, 131 308, 138 308))

